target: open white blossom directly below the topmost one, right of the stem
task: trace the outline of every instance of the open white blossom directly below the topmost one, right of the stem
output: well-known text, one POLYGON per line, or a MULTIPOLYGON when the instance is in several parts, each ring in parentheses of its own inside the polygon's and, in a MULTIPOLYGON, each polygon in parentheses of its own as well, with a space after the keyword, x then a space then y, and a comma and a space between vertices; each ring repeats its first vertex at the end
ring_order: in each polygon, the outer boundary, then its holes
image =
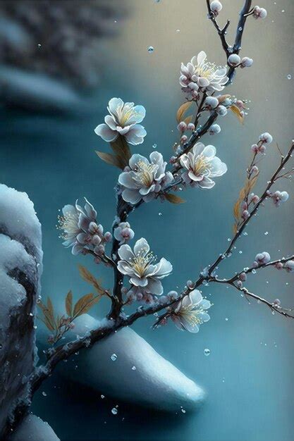
POLYGON ((215 156, 216 148, 212 145, 204 146, 197 142, 188 154, 180 156, 180 164, 185 168, 183 180, 186 184, 209 189, 214 187, 214 180, 227 171, 225 163, 215 156))

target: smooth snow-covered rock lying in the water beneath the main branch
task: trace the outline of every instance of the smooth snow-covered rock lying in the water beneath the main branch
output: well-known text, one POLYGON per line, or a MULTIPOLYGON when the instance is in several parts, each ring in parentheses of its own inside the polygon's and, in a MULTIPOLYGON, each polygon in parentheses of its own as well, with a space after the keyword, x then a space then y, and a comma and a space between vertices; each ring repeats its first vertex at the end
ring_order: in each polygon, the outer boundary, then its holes
MULTIPOLYGON (((99 321, 85 314, 75 321, 69 337, 85 335, 99 321)), ((45 340, 45 337, 42 337, 45 340)), ((164 411, 196 409, 203 402, 204 390, 173 364, 159 355, 149 343, 130 328, 80 351, 78 368, 63 369, 63 375, 94 387, 105 396, 164 411), (111 355, 116 354, 115 361, 111 355)))

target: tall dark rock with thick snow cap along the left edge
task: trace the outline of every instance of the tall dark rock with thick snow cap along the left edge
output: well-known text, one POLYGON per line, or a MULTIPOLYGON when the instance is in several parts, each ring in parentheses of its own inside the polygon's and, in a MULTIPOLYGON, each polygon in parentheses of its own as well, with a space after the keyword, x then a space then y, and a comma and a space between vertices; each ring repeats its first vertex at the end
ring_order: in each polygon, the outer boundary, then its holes
POLYGON ((30 404, 36 360, 35 304, 42 272, 41 228, 27 194, 0 185, 0 434, 30 404))

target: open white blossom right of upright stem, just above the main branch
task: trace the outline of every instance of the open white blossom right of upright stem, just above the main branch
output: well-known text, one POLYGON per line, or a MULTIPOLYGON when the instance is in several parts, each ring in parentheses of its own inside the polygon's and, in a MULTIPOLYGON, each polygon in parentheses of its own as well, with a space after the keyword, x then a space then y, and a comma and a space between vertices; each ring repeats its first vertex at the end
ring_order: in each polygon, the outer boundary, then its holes
POLYGON ((138 287, 142 293, 160 295, 163 292, 161 280, 168 276, 173 267, 169 261, 161 258, 154 263, 155 257, 150 252, 149 244, 143 237, 137 240, 134 250, 129 245, 121 245, 118 249, 118 271, 128 275, 130 283, 138 287))

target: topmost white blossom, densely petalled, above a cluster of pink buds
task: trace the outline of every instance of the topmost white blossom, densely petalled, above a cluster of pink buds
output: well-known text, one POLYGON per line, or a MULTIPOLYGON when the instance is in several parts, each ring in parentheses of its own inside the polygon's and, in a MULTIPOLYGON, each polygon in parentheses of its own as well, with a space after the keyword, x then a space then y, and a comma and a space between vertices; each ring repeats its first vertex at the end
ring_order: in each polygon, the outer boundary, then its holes
POLYGON ((193 56, 187 66, 182 63, 180 68, 180 85, 183 91, 190 94, 194 92, 195 97, 200 88, 211 92, 221 91, 227 82, 226 68, 218 68, 214 63, 209 63, 204 51, 193 56))

